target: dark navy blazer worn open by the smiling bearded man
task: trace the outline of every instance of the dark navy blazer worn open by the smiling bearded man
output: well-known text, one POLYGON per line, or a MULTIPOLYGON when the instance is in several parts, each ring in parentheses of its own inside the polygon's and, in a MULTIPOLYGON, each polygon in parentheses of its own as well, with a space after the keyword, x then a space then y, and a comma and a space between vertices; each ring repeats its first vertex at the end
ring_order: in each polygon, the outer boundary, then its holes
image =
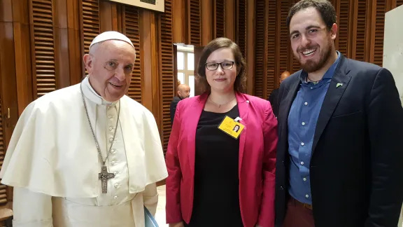
MULTIPOLYGON (((285 79, 278 92, 276 226, 289 196, 288 114, 299 74, 285 79)), ((309 170, 316 227, 397 226, 403 109, 390 71, 341 56, 320 109, 309 170)))

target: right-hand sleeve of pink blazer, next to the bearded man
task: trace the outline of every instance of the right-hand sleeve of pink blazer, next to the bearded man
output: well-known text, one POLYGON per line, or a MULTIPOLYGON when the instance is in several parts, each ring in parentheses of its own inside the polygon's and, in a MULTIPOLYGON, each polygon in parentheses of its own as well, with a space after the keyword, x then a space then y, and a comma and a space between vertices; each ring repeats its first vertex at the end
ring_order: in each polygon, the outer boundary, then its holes
POLYGON ((274 117, 270 103, 267 102, 263 123, 263 195, 260 207, 259 223, 262 227, 274 226, 274 191, 276 182, 277 119, 274 117))

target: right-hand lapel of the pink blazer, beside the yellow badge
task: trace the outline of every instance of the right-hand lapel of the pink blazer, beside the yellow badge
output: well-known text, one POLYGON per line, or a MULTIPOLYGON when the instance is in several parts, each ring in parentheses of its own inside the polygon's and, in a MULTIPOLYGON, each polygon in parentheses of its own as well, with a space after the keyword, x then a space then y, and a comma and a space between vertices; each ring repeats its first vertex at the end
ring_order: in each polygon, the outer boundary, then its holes
POLYGON ((236 92, 236 101, 238 102, 239 117, 242 119, 239 121, 239 123, 245 126, 241 132, 241 135, 239 136, 239 174, 241 174, 243 151, 245 150, 246 131, 248 130, 246 119, 248 119, 249 100, 246 99, 246 97, 241 93, 236 92))

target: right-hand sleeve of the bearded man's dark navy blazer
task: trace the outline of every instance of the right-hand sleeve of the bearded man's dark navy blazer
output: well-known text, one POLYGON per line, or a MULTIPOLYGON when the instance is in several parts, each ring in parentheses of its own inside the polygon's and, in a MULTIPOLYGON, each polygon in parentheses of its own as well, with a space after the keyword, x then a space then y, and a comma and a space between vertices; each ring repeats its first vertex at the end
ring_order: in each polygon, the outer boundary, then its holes
POLYGON ((367 106, 372 188, 365 227, 395 227, 403 200, 403 109, 392 74, 376 75, 367 106))

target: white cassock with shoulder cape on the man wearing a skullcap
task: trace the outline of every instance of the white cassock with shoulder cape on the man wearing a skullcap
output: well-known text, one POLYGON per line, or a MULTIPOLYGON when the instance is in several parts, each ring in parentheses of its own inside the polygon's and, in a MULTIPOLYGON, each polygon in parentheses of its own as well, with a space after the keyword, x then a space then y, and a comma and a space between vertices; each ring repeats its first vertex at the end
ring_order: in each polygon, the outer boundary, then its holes
POLYGON ((144 226, 143 205, 155 214, 155 182, 167 175, 153 114, 127 96, 106 102, 88 77, 27 106, 0 172, 1 183, 14 186, 14 227, 144 226), (115 174, 107 193, 80 86, 104 160, 117 130, 106 160, 115 174))

